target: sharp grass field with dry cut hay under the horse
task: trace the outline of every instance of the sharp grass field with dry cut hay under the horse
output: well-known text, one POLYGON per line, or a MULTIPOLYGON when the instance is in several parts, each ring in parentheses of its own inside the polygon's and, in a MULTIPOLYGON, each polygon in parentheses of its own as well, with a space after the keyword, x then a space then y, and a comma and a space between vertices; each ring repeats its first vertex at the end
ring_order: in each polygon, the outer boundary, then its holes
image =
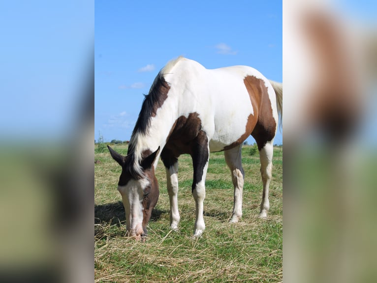
MULTIPOLYGON (((126 145, 113 148, 126 155, 126 145)), ((243 218, 237 224, 228 223, 233 209, 230 171, 222 152, 211 153, 204 201, 206 230, 197 239, 191 238, 195 203, 190 156, 179 159, 179 231, 169 229, 166 175, 159 161, 160 195, 144 243, 125 237, 125 212, 117 191, 121 167, 108 152, 95 153, 95 282, 282 282, 283 151, 274 149, 267 219, 258 218, 259 155, 250 153, 251 146, 244 146, 243 218)))

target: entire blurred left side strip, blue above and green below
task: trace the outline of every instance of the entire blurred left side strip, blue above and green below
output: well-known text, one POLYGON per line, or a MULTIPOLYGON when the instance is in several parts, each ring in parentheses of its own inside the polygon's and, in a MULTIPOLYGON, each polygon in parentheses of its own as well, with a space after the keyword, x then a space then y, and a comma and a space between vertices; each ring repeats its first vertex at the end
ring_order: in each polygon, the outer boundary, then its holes
POLYGON ((94 281, 94 2, 0 2, 0 282, 94 281))

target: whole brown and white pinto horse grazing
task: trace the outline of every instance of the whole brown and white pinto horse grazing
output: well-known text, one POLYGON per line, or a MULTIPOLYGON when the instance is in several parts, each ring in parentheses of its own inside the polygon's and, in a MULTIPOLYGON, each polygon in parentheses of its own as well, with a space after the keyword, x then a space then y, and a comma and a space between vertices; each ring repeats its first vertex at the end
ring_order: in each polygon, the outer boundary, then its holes
POLYGON ((159 195, 155 176, 158 157, 166 169, 170 227, 178 228, 178 157, 185 153, 191 155, 193 164, 194 236, 205 229, 203 201, 210 152, 224 151, 234 186, 231 222, 238 222, 244 186, 241 146, 250 135, 260 154, 260 217, 266 217, 273 140, 278 112, 282 117, 282 97, 282 84, 269 81, 247 66, 207 70, 179 57, 161 69, 144 99, 127 155, 108 146, 111 156, 122 166, 118 190, 128 235, 137 239, 147 235, 146 227, 159 195))

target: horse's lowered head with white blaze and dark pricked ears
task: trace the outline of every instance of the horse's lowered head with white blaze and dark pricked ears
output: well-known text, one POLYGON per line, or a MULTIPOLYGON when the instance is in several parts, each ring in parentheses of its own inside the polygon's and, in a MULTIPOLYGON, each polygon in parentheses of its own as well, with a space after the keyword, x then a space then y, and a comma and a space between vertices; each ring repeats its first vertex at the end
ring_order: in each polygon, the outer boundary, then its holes
POLYGON ((160 148, 152 153, 145 151, 140 162, 135 164, 131 154, 123 156, 107 147, 113 159, 122 166, 118 191, 125 207, 127 235, 140 240, 147 236, 148 221, 158 200, 158 182, 153 164, 160 148))

